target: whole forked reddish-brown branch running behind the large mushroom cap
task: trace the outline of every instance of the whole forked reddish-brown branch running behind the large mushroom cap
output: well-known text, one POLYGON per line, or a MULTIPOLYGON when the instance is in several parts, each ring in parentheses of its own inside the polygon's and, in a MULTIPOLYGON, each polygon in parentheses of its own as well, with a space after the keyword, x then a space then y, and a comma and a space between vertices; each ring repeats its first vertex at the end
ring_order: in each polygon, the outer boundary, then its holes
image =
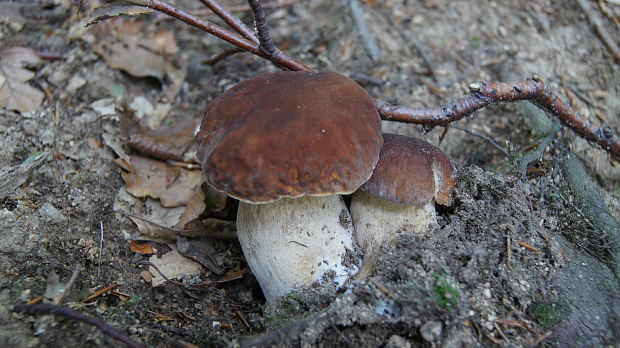
MULTIPOLYGON (((312 71, 311 68, 281 52, 273 45, 266 25, 265 13, 259 0, 248 0, 254 15, 258 43, 255 41, 256 39, 250 40, 241 37, 183 10, 177 9, 162 0, 124 1, 135 5, 146 6, 168 14, 186 24, 211 33, 240 49, 268 59, 284 69, 312 71)), ((221 8, 215 0, 201 1, 208 4, 210 8, 212 6, 221 8)), ((224 21, 231 24, 242 35, 247 36, 247 31, 239 29, 230 23, 230 18, 227 19, 227 14, 221 14, 221 12, 218 11, 214 12, 224 21)), ((516 83, 476 83, 472 84, 470 89, 472 90, 471 93, 437 108, 393 106, 381 100, 376 100, 375 104, 377 105, 381 118, 384 120, 436 126, 460 120, 465 116, 472 115, 489 104, 529 100, 539 108, 559 118, 565 125, 577 132, 581 137, 597 143, 614 156, 620 155, 620 141, 616 133, 610 127, 593 126, 589 120, 579 115, 579 113, 573 110, 568 104, 564 103, 536 76, 516 83)))

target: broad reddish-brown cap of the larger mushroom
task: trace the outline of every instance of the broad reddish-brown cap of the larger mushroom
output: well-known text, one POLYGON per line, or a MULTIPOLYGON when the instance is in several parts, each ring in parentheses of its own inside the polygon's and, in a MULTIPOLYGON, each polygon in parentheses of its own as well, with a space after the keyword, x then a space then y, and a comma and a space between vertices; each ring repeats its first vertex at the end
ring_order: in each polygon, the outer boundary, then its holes
POLYGON ((357 190, 378 161, 381 120, 342 75, 266 73, 213 100, 197 140, 211 186, 266 203, 357 190))

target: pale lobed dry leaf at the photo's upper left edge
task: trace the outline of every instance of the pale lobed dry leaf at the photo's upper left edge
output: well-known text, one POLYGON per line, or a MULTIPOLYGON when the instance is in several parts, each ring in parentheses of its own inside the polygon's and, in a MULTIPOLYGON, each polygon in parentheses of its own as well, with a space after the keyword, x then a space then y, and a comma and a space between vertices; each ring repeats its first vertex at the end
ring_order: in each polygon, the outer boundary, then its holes
POLYGON ((27 82, 34 72, 24 68, 41 59, 27 47, 12 47, 0 53, 0 107, 19 112, 35 111, 43 102, 43 92, 27 82))

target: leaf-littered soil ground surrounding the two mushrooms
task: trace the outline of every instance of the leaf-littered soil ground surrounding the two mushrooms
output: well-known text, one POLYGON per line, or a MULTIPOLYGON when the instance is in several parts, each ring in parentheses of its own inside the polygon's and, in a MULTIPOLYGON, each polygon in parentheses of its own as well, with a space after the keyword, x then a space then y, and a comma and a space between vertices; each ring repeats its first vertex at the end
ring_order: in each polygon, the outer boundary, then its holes
MULTIPOLYGON (((588 3, 620 37, 618 2, 588 3)), ((175 4, 206 13, 199 1, 175 4)), ((99 5, 0 2, 0 346, 117 346, 86 324, 11 311, 59 296, 78 268, 64 303, 149 346, 620 345, 618 250, 567 178, 579 158, 618 218, 618 162, 570 130, 546 137, 524 105, 496 105, 449 130, 440 148, 459 181, 454 205, 438 207, 439 228, 386 246, 344 293, 316 287, 266 304, 234 238, 173 235, 207 224, 230 237, 234 203, 204 186, 192 200, 188 187, 201 185, 191 161, 145 159, 128 139, 158 146, 179 126, 162 151, 185 146, 183 157, 191 139, 178 143, 193 128, 181 125, 277 68, 245 53, 204 64, 228 44, 160 14, 84 27, 99 5), (182 187, 166 186, 170 175, 182 187), (188 243, 211 261, 182 256, 188 243), (180 269, 185 285, 154 286, 161 279, 145 261, 180 269)), ((620 129, 620 65, 577 1, 281 1, 266 12, 280 48, 375 98, 438 106, 470 83, 535 73, 592 122, 620 129)), ((247 10, 236 14, 252 23, 247 10)), ((384 130, 436 145, 443 132, 384 130)))

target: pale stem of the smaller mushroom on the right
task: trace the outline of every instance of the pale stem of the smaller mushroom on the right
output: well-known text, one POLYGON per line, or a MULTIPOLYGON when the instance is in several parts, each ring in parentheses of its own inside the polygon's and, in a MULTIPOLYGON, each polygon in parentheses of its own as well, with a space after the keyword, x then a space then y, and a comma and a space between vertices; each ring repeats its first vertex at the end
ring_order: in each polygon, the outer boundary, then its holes
POLYGON ((400 234, 424 234, 437 226, 435 205, 422 207, 395 203, 357 191, 351 198, 355 238, 365 253, 373 254, 400 234))

